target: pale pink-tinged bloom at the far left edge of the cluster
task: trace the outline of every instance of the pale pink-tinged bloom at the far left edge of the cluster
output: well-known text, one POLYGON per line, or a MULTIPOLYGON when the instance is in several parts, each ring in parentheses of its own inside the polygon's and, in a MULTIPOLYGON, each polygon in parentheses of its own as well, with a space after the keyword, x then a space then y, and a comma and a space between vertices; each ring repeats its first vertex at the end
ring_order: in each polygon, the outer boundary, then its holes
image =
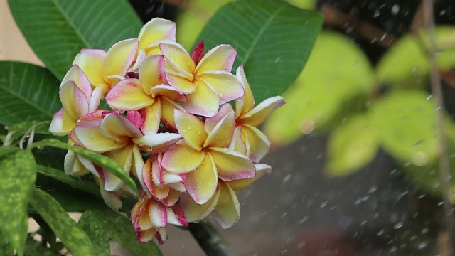
POLYGON ((49 131, 59 136, 67 135, 79 119, 98 109, 102 96, 102 90, 92 90, 85 73, 73 65, 60 84, 59 97, 63 107, 54 114, 49 131))

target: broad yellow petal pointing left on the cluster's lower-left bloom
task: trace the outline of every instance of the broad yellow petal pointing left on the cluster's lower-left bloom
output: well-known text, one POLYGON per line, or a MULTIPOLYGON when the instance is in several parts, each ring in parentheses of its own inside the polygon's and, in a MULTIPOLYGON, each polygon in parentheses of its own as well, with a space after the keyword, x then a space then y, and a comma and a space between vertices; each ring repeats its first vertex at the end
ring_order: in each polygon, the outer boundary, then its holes
POLYGON ((127 144, 127 140, 115 142, 105 137, 101 131, 101 122, 102 120, 95 119, 77 124, 74 132, 82 146, 95 152, 105 152, 119 149, 127 144))

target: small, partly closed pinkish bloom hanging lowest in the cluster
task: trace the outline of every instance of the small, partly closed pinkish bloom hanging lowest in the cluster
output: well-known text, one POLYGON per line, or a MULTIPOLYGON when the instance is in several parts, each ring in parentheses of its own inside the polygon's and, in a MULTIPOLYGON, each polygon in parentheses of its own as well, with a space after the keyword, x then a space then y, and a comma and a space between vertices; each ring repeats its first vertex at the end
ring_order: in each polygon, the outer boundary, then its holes
POLYGON ((188 221, 180 206, 165 206, 163 203, 149 198, 142 193, 139 201, 131 211, 131 220, 134 232, 139 242, 148 242, 153 238, 162 245, 167 239, 166 226, 188 226, 188 221))

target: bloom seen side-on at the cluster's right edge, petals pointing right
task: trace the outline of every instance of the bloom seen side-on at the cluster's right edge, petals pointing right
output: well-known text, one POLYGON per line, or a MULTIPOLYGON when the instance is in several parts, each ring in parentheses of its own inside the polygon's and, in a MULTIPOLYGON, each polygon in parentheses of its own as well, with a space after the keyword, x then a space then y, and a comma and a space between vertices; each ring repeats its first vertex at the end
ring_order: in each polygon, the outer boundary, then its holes
POLYGON ((245 95, 235 100, 236 129, 230 148, 249 156, 257 163, 269 152, 270 142, 265 134, 256 127, 269 117, 269 114, 284 104, 281 96, 264 100, 255 107, 250 84, 247 81, 243 66, 237 68, 237 78, 245 88, 245 95))

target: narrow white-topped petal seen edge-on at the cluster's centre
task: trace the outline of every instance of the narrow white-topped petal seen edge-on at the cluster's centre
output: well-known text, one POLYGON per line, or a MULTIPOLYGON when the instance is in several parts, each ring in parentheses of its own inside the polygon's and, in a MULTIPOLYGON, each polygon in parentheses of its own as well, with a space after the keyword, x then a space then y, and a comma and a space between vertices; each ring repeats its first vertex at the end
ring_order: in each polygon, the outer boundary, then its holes
POLYGON ((146 151, 150 154, 157 154, 166 151, 181 138, 181 134, 164 132, 137 137, 133 139, 133 142, 139 146, 145 147, 146 151))

